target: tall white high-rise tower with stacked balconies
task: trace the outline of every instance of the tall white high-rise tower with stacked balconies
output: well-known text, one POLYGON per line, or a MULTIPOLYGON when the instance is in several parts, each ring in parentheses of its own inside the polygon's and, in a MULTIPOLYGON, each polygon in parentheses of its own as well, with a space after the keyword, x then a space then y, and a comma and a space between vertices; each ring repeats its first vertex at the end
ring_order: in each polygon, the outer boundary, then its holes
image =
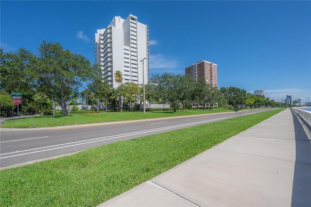
POLYGON ((131 14, 126 19, 113 17, 110 25, 95 34, 95 64, 101 67, 104 78, 114 88, 119 86, 114 78, 118 70, 123 75, 122 83, 142 84, 143 80, 148 83, 148 26, 131 14))

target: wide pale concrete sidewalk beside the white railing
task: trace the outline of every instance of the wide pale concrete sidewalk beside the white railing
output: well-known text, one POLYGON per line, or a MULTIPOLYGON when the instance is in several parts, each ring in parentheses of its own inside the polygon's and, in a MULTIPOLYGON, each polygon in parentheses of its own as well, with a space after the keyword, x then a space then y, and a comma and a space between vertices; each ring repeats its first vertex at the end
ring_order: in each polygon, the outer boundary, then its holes
POLYGON ((311 131, 286 109, 100 207, 311 207, 311 131))

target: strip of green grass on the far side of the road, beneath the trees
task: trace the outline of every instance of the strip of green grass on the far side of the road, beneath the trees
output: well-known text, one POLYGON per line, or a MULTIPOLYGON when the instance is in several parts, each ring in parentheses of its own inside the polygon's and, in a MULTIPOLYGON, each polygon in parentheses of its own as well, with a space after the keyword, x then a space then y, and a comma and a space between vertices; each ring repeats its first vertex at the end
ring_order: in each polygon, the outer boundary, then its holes
POLYGON ((93 114, 72 114, 67 116, 58 115, 43 116, 43 117, 29 117, 21 119, 13 119, 4 121, 1 128, 35 128, 35 127, 50 127, 50 126, 66 126, 86 123, 101 123, 110 121, 129 121, 141 119, 153 119, 163 117, 189 116, 198 114, 210 114, 220 112, 233 112, 227 109, 211 109, 211 110, 178 110, 173 111, 151 111, 146 112, 108 112, 108 113, 93 113, 93 114))

